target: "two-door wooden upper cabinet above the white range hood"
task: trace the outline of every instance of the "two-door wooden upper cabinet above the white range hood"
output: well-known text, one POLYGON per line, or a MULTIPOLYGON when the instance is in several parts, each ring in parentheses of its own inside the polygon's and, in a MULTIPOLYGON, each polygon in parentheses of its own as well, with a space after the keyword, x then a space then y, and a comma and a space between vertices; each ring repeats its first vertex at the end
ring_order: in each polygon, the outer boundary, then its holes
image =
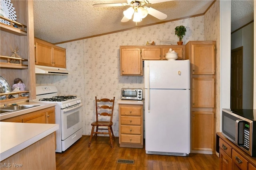
POLYGON ((66 68, 66 49, 35 38, 35 64, 66 68))

